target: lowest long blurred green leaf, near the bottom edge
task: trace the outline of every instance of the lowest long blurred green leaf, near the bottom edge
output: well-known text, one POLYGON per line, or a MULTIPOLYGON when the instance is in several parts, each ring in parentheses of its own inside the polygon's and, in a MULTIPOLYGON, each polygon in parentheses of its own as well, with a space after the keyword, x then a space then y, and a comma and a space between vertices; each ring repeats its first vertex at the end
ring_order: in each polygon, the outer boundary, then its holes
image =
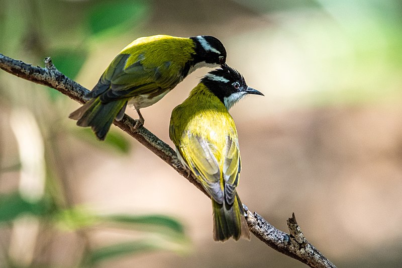
POLYGON ((89 253, 89 262, 93 265, 100 261, 121 257, 128 254, 138 254, 157 249, 164 249, 160 243, 152 241, 134 241, 105 246, 89 253))

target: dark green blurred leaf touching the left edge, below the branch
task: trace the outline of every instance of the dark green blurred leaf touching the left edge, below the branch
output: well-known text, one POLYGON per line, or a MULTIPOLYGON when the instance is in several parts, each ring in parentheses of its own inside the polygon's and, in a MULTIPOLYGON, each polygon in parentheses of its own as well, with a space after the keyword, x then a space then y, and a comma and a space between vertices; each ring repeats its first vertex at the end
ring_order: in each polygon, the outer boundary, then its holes
POLYGON ((0 196, 0 223, 14 220, 21 214, 44 215, 51 204, 47 201, 28 202, 19 193, 0 196))

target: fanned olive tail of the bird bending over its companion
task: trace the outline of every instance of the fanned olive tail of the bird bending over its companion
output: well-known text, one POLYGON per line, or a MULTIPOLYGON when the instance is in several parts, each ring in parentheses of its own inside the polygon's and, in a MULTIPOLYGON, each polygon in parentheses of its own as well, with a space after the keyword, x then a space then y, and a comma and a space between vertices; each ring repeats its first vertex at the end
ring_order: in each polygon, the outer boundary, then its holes
MULTIPOLYGON (((99 140, 104 140, 113 120, 122 113, 123 109, 125 110, 126 105, 127 101, 124 100, 102 103, 99 98, 93 98, 72 112, 69 118, 78 120, 78 126, 90 126, 96 137, 99 140)), ((119 116, 119 119, 121 118, 122 116, 119 116)))

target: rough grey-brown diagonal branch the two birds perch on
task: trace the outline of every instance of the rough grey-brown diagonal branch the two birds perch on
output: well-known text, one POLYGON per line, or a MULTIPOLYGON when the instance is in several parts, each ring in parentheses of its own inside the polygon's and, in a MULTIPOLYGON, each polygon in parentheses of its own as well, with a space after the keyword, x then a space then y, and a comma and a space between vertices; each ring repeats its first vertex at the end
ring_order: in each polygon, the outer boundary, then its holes
MULTIPOLYGON (((0 68, 23 79, 54 88, 81 104, 85 103, 83 96, 89 92, 86 88, 58 71, 50 58, 45 59, 45 68, 41 68, 0 54, 0 68)), ((135 122, 136 120, 125 115, 123 120, 114 121, 114 124, 137 139, 208 196, 193 174, 188 174, 187 170, 178 164, 179 160, 175 151, 144 127, 133 131, 135 122)), ((287 234, 276 229, 256 212, 250 212, 247 206, 243 206, 250 231, 271 248, 302 261, 310 267, 335 267, 331 261, 307 241, 296 222, 294 213, 287 220, 287 227, 290 232, 290 234, 287 234)))

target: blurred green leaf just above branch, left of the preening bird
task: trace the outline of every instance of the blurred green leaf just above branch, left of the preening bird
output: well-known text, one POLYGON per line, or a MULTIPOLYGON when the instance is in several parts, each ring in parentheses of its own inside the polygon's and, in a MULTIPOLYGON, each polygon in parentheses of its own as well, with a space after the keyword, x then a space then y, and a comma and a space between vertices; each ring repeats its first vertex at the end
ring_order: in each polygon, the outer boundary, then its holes
MULTIPOLYGON (((56 68, 74 79, 87 58, 87 51, 75 48, 58 49, 50 53, 56 68)), ((54 90, 53 90, 54 91, 54 90)))

